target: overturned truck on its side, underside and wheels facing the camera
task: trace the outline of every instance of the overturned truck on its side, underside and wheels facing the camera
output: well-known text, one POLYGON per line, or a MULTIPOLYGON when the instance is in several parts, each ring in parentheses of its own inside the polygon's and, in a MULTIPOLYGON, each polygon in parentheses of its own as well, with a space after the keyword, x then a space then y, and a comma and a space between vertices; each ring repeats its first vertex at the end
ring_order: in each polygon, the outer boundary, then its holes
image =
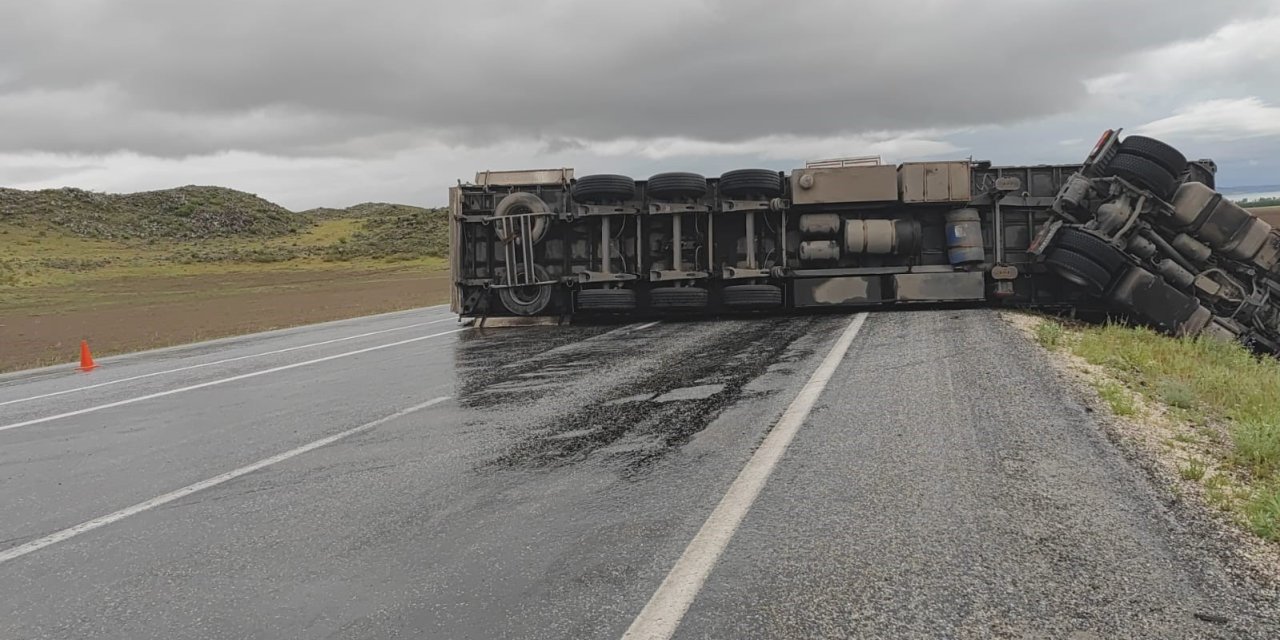
POLYGON ((675 316, 1001 305, 1280 351, 1280 232, 1211 160, 1108 131, 1083 164, 484 172, 451 189, 453 311, 675 316))

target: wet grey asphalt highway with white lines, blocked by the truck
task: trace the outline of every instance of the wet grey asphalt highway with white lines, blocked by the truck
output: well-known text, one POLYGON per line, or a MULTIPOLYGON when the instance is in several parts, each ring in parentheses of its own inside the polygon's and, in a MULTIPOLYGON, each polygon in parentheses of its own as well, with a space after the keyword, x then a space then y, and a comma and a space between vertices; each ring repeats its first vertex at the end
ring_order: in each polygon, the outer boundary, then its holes
POLYGON ((1061 385, 991 311, 0 376, 0 639, 1280 637, 1061 385))

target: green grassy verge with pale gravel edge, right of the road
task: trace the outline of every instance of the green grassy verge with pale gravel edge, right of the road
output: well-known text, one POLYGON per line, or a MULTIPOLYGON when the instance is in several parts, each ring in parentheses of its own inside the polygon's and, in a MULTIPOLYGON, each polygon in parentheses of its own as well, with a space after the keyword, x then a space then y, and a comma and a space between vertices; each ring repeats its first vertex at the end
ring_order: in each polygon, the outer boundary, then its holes
POLYGON ((1032 330, 1211 507, 1280 543, 1280 360, 1123 325, 1036 317, 1032 330))

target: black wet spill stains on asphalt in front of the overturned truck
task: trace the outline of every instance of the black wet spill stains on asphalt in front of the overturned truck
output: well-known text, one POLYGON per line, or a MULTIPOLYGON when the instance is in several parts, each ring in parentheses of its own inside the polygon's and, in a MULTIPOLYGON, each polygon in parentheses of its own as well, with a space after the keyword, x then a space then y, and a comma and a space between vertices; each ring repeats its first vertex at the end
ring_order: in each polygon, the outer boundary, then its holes
POLYGON ((689 442, 724 408, 776 393, 773 385, 751 383, 790 372, 791 364, 809 355, 794 343, 832 319, 710 324, 716 330, 690 332, 692 323, 677 323, 636 334, 541 328, 461 343, 458 402, 477 410, 477 428, 498 426, 512 435, 486 467, 593 460, 623 474, 639 471, 689 442))

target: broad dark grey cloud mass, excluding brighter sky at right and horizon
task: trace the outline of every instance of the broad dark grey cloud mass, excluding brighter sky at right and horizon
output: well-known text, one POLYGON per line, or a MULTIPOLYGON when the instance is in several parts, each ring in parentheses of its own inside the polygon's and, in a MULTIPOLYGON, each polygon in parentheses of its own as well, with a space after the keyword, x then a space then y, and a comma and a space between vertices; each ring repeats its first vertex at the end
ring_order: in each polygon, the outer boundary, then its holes
POLYGON ((3 151, 378 155, 947 128, 1268 3, 45 0, 0 23, 3 151))

